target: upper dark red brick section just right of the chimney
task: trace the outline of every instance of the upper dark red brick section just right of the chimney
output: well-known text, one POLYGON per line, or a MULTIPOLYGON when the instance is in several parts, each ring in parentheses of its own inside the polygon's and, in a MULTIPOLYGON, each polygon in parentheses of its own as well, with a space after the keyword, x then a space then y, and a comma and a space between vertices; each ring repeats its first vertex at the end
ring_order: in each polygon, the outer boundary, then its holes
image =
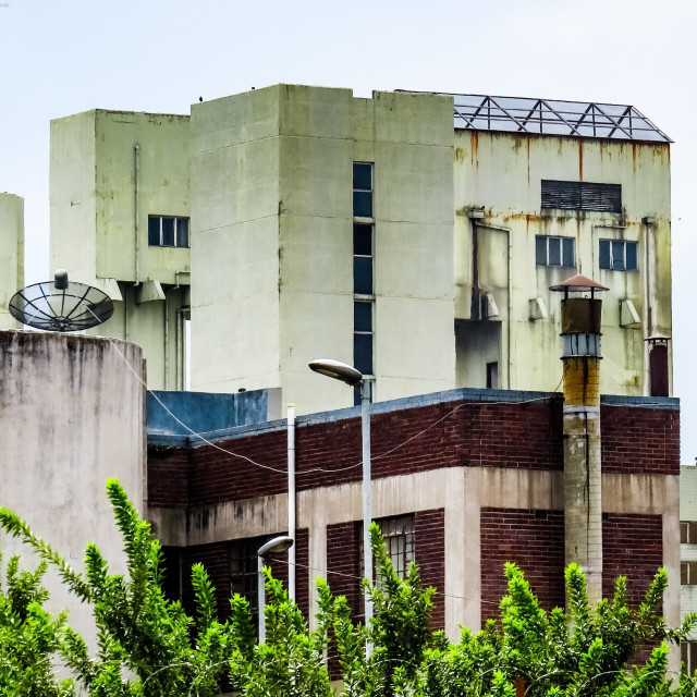
POLYGON ((603 405, 602 472, 680 474, 680 412, 603 405))

